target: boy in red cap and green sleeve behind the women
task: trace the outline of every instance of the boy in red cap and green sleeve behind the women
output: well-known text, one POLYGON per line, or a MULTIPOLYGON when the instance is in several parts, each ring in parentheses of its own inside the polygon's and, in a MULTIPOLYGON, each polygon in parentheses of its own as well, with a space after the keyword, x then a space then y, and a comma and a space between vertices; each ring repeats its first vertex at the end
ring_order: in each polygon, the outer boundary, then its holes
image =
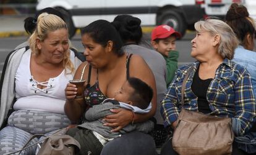
POLYGON ((177 58, 179 52, 176 49, 176 39, 181 38, 181 34, 175 31, 171 26, 156 26, 151 33, 151 45, 153 48, 163 55, 167 66, 167 86, 174 78, 177 70, 177 58))

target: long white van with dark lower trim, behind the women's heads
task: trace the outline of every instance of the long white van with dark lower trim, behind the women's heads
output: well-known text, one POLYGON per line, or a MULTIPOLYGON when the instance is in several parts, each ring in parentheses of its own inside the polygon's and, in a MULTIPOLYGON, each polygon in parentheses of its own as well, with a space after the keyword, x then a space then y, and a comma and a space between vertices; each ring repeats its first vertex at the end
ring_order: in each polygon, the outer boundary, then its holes
POLYGON ((142 20, 142 26, 168 24, 181 34, 190 25, 203 18, 203 0, 38 0, 36 10, 54 7, 66 15, 69 34, 77 28, 105 19, 109 22, 116 15, 130 14, 142 20))

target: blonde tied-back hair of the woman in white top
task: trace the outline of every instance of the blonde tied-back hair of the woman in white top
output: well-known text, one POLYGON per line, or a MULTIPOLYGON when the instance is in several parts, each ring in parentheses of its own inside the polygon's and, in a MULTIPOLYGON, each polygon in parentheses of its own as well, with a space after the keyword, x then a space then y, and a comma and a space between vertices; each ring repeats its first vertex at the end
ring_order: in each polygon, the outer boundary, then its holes
MULTIPOLYGON (((48 13, 40 14, 37 18, 35 31, 32 33, 32 35, 28 39, 32 54, 35 54, 35 55, 40 54, 40 50, 36 46, 36 39, 40 39, 40 41, 44 41, 48 37, 49 32, 60 30, 62 28, 67 30, 67 25, 57 15, 48 14, 48 13)), ((69 47, 70 46, 71 44, 69 41, 69 47)), ((70 50, 67 50, 67 52, 64 53, 62 64, 63 64, 63 67, 65 68, 65 73, 67 71, 66 69, 69 69, 71 73, 74 73, 75 68, 73 63, 70 60, 70 50)))

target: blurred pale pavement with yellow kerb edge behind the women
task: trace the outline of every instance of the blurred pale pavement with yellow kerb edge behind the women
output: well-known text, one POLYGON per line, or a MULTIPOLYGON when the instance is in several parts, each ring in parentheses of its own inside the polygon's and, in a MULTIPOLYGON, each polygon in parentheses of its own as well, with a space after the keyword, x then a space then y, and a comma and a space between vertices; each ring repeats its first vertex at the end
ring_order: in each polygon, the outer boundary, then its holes
MULTIPOLYGON (((33 15, 0 15, 0 38, 28 36, 24 30, 24 20, 33 15)), ((143 33, 150 33, 153 26, 143 27, 143 33)), ((80 33, 77 30, 77 33, 80 33)))

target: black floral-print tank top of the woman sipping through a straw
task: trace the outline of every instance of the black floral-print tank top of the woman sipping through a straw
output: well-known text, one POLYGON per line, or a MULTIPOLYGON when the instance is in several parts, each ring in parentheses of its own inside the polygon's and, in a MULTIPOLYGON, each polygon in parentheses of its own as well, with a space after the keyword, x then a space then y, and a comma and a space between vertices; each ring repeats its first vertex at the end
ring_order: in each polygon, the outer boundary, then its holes
MULTIPOLYGON (((126 79, 129 79, 130 57, 132 57, 132 54, 126 55, 126 79)), ((85 103, 87 103, 89 107, 92 107, 93 105, 99 105, 102 101, 108 98, 100 90, 99 82, 98 82, 98 70, 97 70, 96 82, 94 85, 92 85, 92 87, 90 87, 91 71, 92 71, 92 66, 90 65, 89 72, 88 72, 88 84, 84 91, 85 103)))

